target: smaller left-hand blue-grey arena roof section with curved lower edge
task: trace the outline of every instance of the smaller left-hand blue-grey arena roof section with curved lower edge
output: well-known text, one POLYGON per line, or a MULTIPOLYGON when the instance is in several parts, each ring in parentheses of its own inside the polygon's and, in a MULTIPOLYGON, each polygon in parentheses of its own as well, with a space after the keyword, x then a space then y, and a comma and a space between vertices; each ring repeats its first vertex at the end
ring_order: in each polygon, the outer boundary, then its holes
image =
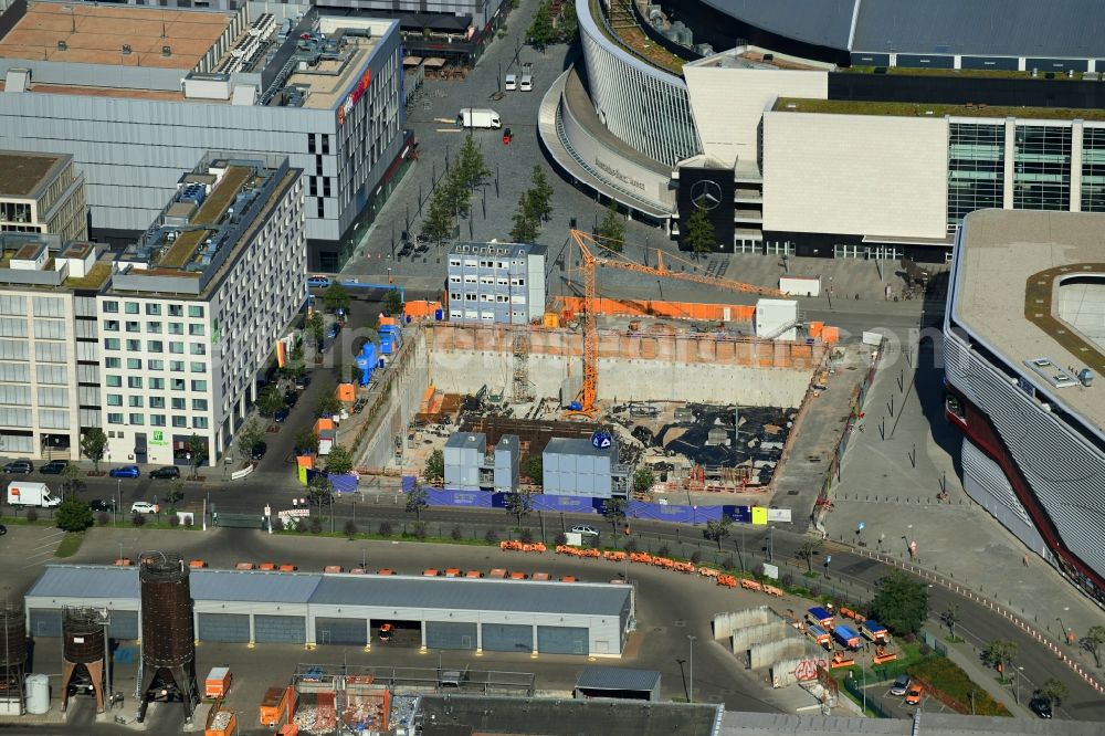
MULTIPOLYGON (((867 0, 863 0, 866 4, 867 0)), ((830 49, 846 49, 856 0, 704 0, 764 31, 830 49)), ((919 3, 927 7, 927 3, 919 3)))

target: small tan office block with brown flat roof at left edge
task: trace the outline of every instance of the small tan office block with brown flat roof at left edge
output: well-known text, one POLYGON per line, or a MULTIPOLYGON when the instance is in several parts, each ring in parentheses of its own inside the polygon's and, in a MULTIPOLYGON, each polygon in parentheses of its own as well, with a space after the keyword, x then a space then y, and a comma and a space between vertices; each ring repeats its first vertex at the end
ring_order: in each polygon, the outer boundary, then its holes
POLYGON ((72 156, 0 150, 0 232, 88 239, 84 177, 72 156))

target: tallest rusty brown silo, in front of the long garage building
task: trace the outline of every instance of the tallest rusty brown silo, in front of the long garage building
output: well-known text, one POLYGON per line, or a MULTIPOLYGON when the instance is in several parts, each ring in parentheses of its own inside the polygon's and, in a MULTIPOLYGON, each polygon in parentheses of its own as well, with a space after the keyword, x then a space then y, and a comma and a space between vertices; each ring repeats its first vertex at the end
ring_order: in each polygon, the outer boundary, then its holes
POLYGON ((145 696, 138 719, 151 701, 179 701, 185 721, 191 723, 199 703, 196 682, 196 637, 188 565, 179 555, 143 553, 138 581, 141 588, 141 665, 145 696))

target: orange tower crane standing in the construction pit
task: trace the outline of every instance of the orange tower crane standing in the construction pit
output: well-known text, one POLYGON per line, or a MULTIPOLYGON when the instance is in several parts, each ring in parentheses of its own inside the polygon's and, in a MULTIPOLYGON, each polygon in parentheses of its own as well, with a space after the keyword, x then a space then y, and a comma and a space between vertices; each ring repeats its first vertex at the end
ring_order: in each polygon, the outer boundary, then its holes
MULTIPOLYGON (((596 299, 598 298, 598 288, 596 286, 594 280, 594 267, 604 266, 611 269, 621 269, 623 271, 634 271, 636 273, 646 274, 650 276, 663 276, 666 278, 678 278, 680 281, 691 281, 698 284, 705 284, 707 286, 714 286, 717 288, 727 288, 734 292, 741 292, 745 294, 759 294, 761 296, 780 296, 786 297, 787 294, 780 292, 778 288, 769 288, 767 286, 756 286, 753 284, 746 284, 739 281, 733 281, 729 278, 722 278, 719 276, 707 276, 699 273, 686 272, 686 271, 672 271, 664 265, 664 253, 660 249, 656 249, 656 266, 646 266, 629 259, 619 255, 608 249, 606 249, 602 243, 599 242, 589 233, 581 230, 572 230, 571 239, 576 241, 576 245, 579 246, 579 261, 583 269, 583 411, 590 412, 594 408, 596 397, 598 396, 599 388, 599 334, 596 326, 594 314, 597 312, 596 299), (596 255, 588 243, 594 246, 594 250, 602 252, 602 255, 596 255)), ((688 265, 697 269, 698 266, 690 261, 684 261, 677 256, 670 255, 669 257, 675 259, 676 261, 682 261, 688 265)))

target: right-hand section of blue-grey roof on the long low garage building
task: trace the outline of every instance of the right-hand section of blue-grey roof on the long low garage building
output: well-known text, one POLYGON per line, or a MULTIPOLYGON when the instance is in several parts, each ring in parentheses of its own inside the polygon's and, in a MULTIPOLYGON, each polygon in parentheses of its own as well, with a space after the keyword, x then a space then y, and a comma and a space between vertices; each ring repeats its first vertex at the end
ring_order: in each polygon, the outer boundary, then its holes
POLYGON ((418 578, 404 576, 327 575, 312 603, 431 608, 457 611, 578 613, 618 616, 629 596, 624 586, 418 578))

